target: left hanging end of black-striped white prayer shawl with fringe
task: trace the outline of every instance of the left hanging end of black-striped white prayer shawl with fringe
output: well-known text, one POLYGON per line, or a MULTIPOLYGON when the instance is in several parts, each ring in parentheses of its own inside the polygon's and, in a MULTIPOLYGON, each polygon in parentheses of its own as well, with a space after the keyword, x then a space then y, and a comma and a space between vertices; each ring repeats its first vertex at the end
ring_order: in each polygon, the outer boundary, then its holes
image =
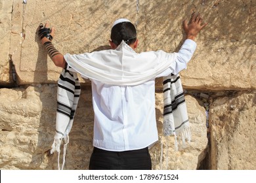
POLYGON ((56 133, 51 148, 51 154, 58 152, 58 169, 60 169, 60 145, 64 140, 62 169, 65 163, 66 148, 69 142, 68 133, 73 125, 75 110, 81 92, 77 73, 62 69, 58 79, 56 133))

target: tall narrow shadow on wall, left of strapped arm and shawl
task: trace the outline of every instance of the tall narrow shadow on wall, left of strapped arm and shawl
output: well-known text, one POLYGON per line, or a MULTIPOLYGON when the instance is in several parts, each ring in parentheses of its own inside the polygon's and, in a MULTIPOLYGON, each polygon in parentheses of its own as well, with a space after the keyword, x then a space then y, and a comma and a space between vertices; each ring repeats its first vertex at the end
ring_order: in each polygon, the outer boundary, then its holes
MULTIPOLYGON (((44 46, 41 44, 41 41, 37 35, 37 30, 35 31, 35 42, 37 42, 39 50, 37 53, 37 61, 36 61, 36 66, 35 66, 35 73, 34 73, 34 78, 33 81, 35 83, 38 83, 39 81, 47 82, 47 52, 45 51, 44 46)), ((42 83, 43 83, 42 82, 42 83)), ((53 113, 50 114, 47 112, 47 108, 50 106, 51 109, 56 107, 56 97, 51 97, 53 100, 49 101, 47 100, 47 94, 50 94, 49 91, 47 90, 47 86, 42 86, 41 84, 37 84, 38 88, 37 92, 39 92, 39 97, 41 100, 41 105, 42 105, 42 110, 41 110, 41 117, 39 119, 39 127, 37 129, 38 132, 38 139, 37 139, 37 148, 34 150, 34 154, 32 155, 32 162, 30 163, 31 169, 44 169, 42 164, 45 161, 45 158, 49 156, 50 149, 46 150, 45 145, 47 146, 47 143, 49 143, 49 137, 46 133, 46 128, 45 126, 51 126, 54 130, 55 125, 53 124, 54 119, 53 118, 53 113), (47 92, 47 93, 46 93, 47 92), (46 122, 46 120, 48 122, 46 122)), ((56 90, 55 90, 56 92, 56 90)), ((56 93, 53 93, 53 95, 56 95, 56 93)), ((54 111, 52 111, 54 112, 54 111)), ((53 133, 54 134, 54 133, 53 133)), ((53 136, 53 135, 52 135, 53 136)), ((53 141, 52 141, 53 142, 53 141)), ((49 143, 49 148, 51 148, 51 142, 49 143)))

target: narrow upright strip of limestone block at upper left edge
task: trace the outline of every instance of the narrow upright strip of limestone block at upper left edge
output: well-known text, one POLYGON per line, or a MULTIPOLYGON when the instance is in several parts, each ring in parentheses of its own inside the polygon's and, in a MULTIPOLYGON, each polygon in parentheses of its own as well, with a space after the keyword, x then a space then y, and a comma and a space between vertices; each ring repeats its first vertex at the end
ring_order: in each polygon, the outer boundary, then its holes
POLYGON ((10 75, 9 48, 11 37, 12 1, 0 1, 0 84, 12 82, 10 75))

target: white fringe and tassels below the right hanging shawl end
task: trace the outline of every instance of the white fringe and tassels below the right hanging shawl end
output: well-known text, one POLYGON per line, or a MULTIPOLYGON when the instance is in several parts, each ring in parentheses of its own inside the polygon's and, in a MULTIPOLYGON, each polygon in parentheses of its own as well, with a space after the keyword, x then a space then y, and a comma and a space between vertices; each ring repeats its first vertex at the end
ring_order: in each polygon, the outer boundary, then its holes
MULTIPOLYGON (((169 165, 169 141, 168 141, 169 136, 163 136, 161 137, 161 157, 160 157, 160 169, 163 170, 163 141, 165 141, 165 157, 166 157, 166 162, 165 162, 165 170, 168 169, 169 165)), ((190 132, 190 127, 186 127, 182 129, 182 131, 179 132, 178 135, 176 133, 173 135, 174 140, 175 140, 175 152, 179 150, 179 146, 182 148, 186 148, 187 143, 190 144, 191 141, 191 132, 190 132)))

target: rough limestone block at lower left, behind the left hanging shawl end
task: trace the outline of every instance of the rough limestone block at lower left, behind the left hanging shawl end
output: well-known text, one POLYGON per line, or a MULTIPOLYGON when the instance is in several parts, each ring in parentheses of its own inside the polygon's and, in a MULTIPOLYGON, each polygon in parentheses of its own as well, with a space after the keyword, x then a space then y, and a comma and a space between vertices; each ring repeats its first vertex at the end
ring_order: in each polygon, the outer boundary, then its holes
MULTIPOLYGON (((58 169, 49 154, 55 131, 56 86, 0 90, 0 169, 58 169)), ((87 169, 92 151, 91 91, 83 90, 70 133, 66 169, 87 169)))

